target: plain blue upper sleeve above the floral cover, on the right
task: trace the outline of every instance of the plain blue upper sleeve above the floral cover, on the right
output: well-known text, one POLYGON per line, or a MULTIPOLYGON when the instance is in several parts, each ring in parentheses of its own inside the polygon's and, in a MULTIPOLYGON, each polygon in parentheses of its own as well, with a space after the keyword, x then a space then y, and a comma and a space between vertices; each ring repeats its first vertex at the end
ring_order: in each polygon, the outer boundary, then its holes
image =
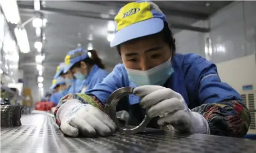
POLYGON ((186 76, 195 84, 200 104, 235 100, 241 102, 240 94, 230 85, 221 82, 214 63, 191 54, 185 59, 186 76))

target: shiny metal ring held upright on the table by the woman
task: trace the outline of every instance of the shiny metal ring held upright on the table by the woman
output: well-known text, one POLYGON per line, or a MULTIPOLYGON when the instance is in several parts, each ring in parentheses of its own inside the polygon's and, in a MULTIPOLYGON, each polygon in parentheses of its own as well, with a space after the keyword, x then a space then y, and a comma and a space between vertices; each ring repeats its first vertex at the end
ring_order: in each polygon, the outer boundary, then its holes
POLYGON ((110 94, 107 100, 107 104, 105 104, 105 113, 107 113, 108 116, 110 116, 110 118, 115 122, 116 126, 118 127, 118 132, 122 134, 138 133, 141 130, 145 129, 145 127, 148 125, 148 123, 151 120, 151 118, 145 115, 145 118, 138 126, 127 128, 116 117, 116 105, 118 104, 118 102, 122 97, 128 96, 129 94, 134 94, 133 90, 134 88, 132 87, 119 88, 118 90, 110 94))

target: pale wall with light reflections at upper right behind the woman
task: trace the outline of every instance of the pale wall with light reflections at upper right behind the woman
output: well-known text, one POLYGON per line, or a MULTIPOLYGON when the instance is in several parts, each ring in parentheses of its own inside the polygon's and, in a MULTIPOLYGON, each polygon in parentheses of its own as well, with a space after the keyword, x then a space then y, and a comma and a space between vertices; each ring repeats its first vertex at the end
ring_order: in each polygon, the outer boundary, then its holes
POLYGON ((182 30, 175 35, 177 52, 194 52, 214 63, 237 59, 256 52, 256 3, 235 1, 212 15, 208 21, 193 26, 210 27, 209 34, 182 30), (205 38, 211 40, 211 51, 205 49, 205 38))

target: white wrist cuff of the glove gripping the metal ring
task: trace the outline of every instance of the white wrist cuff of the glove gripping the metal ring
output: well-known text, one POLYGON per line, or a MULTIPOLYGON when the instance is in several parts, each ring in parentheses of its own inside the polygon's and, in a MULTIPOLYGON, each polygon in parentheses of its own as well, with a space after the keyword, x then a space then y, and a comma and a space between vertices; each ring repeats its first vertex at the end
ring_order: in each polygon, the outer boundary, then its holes
POLYGON ((194 133, 210 134, 208 121, 200 113, 192 112, 192 115, 194 118, 194 133))

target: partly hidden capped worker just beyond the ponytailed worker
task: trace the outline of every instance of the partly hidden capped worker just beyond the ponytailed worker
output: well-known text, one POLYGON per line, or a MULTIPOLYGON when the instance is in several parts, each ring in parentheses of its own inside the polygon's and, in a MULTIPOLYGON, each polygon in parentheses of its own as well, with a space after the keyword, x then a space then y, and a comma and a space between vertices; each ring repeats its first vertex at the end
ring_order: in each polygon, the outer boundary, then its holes
POLYGON ((73 79, 73 75, 71 73, 71 71, 67 71, 66 73, 64 73, 64 68, 65 68, 66 64, 64 62, 59 63, 59 65, 57 66, 56 69, 56 74, 55 74, 55 79, 57 79, 58 77, 63 77, 65 79, 67 88, 66 90, 63 91, 63 96, 65 96, 68 93, 77 93, 78 91, 75 90, 75 85, 76 85, 76 80, 73 79))

